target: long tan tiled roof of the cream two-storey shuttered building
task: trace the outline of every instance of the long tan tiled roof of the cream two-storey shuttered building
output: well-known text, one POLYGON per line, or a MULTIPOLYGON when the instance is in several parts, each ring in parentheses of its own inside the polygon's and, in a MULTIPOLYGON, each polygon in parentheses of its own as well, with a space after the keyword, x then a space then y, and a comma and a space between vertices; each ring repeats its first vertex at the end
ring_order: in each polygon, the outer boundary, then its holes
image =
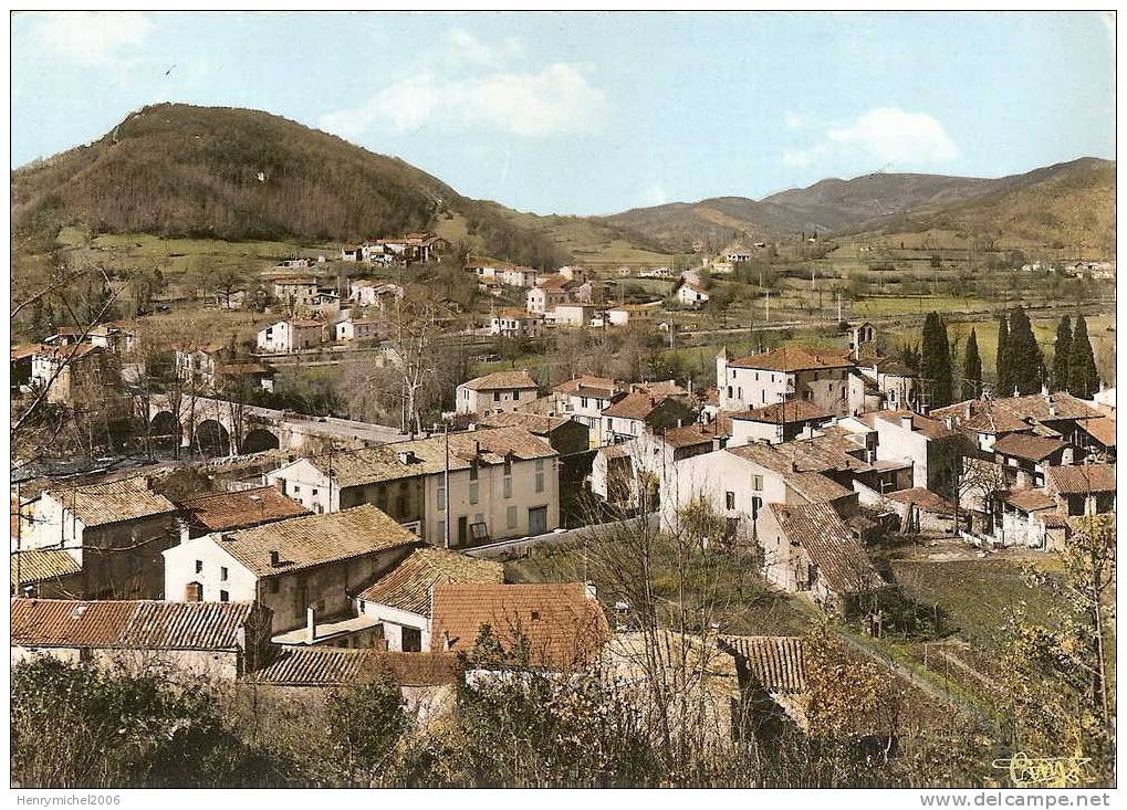
MULTIPOLYGON (((381 481, 431 475, 446 466, 445 437, 443 435, 414 442, 394 442, 346 453, 309 456, 322 474, 332 472, 338 487, 357 487, 381 481), (414 461, 400 461, 400 454, 410 453, 414 461)), ((474 446, 481 464, 502 464, 512 454, 518 461, 551 459, 558 455, 552 446, 539 436, 518 427, 483 428, 450 434, 450 469, 469 470, 474 446)))

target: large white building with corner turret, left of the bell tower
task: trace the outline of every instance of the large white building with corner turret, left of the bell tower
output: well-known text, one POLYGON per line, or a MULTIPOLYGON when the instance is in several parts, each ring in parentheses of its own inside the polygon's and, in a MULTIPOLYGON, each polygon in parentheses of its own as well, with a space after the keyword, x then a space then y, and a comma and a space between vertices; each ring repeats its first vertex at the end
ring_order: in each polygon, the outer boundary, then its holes
POLYGON ((716 358, 720 409, 744 411, 786 400, 813 402, 834 416, 859 411, 863 384, 843 349, 783 347, 729 361, 716 358))

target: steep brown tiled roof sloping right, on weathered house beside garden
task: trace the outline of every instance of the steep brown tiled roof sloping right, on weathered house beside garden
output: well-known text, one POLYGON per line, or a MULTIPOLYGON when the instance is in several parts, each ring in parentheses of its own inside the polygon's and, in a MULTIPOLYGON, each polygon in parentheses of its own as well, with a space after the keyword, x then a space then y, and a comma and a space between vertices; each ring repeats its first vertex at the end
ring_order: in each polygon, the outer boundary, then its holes
POLYGON ((831 590, 850 594, 885 586, 864 549, 828 504, 773 504, 767 508, 774 510, 787 538, 810 555, 810 561, 818 567, 818 576, 831 590))

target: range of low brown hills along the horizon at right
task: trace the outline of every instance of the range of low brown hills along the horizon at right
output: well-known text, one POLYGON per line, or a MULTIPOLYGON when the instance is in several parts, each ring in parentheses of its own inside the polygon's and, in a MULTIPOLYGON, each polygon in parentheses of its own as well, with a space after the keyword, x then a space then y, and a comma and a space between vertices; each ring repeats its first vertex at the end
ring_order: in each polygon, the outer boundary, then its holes
MULTIPOLYGON (((920 212, 921 217, 942 219, 947 211, 952 217, 949 220, 952 225, 970 230, 1004 230, 1004 203, 1001 207, 995 204, 993 208, 995 215, 1003 217, 999 222, 987 222, 986 214, 975 215, 976 208, 971 203, 982 201, 986 204, 984 201, 1000 195, 1035 189, 1021 195, 1026 205, 1032 205, 1033 199, 1042 197, 1036 190, 1040 188, 1048 195, 1046 198, 1056 201, 1054 205, 1059 208, 1057 216, 1070 222, 1076 220, 1066 230, 1084 242, 1104 242, 1106 234, 1083 233, 1085 225, 1081 220, 1090 220, 1089 224, 1097 230, 1102 226, 1095 219, 1085 217, 1082 213, 1089 208, 1090 202, 1097 199, 1113 204, 1113 178, 1115 163, 1094 158, 994 179, 875 173, 851 180, 820 180, 807 188, 780 192, 761 201, 716 197, 699 203, 633 208, 605 217, 605 221, 667 250, 686 250, 698 240, 771 239, 787 233, 840 233, 891 226, 904 224, 904 217, 911 217, 915 212, 920 212), (964 205, 971 207, 959 207, 964 205)), ((1029 211, 1023 216, 1028 219, 1033 213, 1029 211)), ((1017 212, 1014 216, 1022 219, 1017 212)), ((921 219, 912 226, 922 224, 921 219)), ((1026 230, 1026 225, 1017 222, 1014 226, 1026 230)))

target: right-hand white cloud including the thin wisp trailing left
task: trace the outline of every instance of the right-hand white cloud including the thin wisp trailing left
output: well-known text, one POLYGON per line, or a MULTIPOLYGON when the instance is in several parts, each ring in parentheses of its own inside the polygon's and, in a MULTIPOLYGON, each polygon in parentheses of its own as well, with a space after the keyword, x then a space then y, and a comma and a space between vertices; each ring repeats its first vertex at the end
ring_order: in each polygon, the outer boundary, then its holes
MULTIPOLYGON (((788 128, 793 128, 788 119, 788 128)), ((834 160, 871 160, 897 169, 943 163, 959 154, 943 125, 926 113, 876 107, 857 118, 826 128, 810 146, 786 149, 782 162, 806 168, 834 160)))

